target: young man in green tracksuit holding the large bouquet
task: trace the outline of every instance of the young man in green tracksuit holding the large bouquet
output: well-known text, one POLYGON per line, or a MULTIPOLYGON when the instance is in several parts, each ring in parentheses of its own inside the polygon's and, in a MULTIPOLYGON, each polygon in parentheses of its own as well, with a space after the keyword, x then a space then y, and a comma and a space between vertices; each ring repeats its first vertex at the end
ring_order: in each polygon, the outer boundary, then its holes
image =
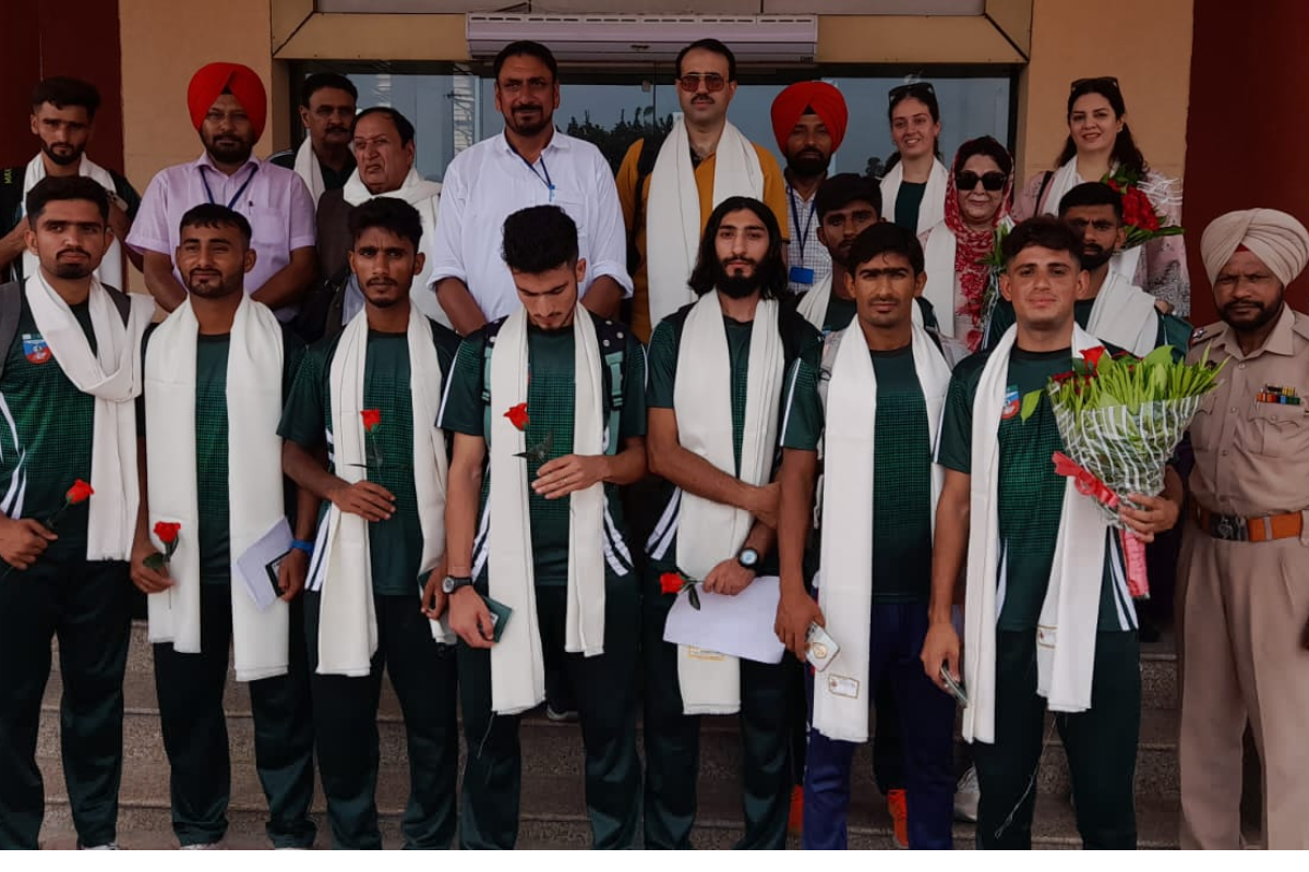
MULTIPOLYGON (((1009 233, 1000 290, 1013 303, 1016 326, 994 349, 956 367, 941 422, 937 463, 945 481, 922 660, 939 686, 945 686, 942 668, 949 669, 969 694, 963 737, 974 743, 983 848, 1031 846, 1046 696, 1068 752, 1084 846, 1136 846, 1140 669, 1122 545, 1090 497, 1077 494, 1050 460, 1063 439, 1045 394, 1049 379, 1071 370, 1073 357, 1105 353, 1073 320, 1088 280, 1081 248, 1068 225, 1052 217, 1009 233), (1039 392, 1038 404, 1025 417, 1022 397, 1031 392, 1039 392), (1062 563, 1056 548, 1067 552, 1062 563), (965 569, 961 671, 950 605, 965 569), (1069 603, 1090 608, 1063 603, 1083 591, 1089 599, 1069 603), (1071 618, 1058 621, 1060 614, 1071 618), (1052 663, 1077 667, 1055 671, 1052 663)), ((1169 471, 1164 495, 1130 498, 1143 509, 1124 507, 1121 515, 1149 541, 1177 522, 1181 481, 1169 471)))

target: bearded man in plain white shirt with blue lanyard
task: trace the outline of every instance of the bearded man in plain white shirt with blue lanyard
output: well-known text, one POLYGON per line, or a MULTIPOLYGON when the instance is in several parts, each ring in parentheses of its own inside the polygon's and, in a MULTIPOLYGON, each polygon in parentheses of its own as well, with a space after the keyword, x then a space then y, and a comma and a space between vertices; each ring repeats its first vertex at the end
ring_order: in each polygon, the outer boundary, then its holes
POLYGON ((600 149, 555 129, 559 64, 548 48, 513 42, 500 50, 495 106, 504 132, 459 152, 445 171, 428 278, 437 302, 463 336, 516 311, 500 229, 520 209, 554 204, 577 225, 583 305, 613 318, 632 294, 618 190, 600 149))

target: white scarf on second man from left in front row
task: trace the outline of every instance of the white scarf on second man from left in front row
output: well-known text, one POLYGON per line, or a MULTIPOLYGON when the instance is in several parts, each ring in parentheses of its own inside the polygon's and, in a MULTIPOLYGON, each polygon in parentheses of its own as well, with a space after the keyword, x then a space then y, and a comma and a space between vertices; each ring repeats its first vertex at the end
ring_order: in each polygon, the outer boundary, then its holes
MULTIPOLYGON (((187 298, 151 337, 145 353, 145 431, 149 524, 182 524, 169 561, 173 587, 147 597, 151 642, 200 654, 200 510, 195 456, 195 388, 199 322, 187 298)), ((281 373, 278 316, 245 294, 232 322, 226 369, 228 541, 232 562, 285 514, 283 505, 281 373)), ((202 409, 202 414, 207 411, 202 409)), ((234 574, 233 574, 234 575, 234 574)), ((245 584, 232 579, 232 650, 237 681, 285 675, 289 607, 263 612, 245 584)))

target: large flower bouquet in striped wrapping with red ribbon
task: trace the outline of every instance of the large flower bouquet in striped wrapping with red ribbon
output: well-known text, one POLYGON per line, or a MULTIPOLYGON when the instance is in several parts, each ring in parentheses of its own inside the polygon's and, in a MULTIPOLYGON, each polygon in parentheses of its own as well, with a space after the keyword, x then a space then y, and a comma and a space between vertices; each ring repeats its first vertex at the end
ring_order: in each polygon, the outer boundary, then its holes
MULTIPOLYGON (((1064 451, 1052 458, 1055 471, 1073 478, 1077 490, 1094 498, 1122 531, 1127 590, 1134 597, 1149 596, 1145 544, 1130 533, 1118 507, 1127 494, 1164 489, 1164 465, 1204 396, 1217 386, 1221 369, 1208 362, 1207 350, 1199 362, 1186 363, 1174 360, 1168 345, 1144 358, 1114 358, 1096 348, 1046 387, 1064 443, 1064 451)), ((1024 414, 1035 403, 1030 407, 1024 414)))

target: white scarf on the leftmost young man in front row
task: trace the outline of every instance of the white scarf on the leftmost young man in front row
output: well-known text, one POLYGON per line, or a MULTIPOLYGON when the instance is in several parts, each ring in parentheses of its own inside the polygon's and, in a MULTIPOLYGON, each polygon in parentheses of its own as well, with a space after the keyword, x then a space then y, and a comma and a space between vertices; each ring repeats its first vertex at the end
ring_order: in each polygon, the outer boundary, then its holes
POLYGON ((124 327, 118 306, 93 276, 88 297, 96 333, 92 352, 77 316, 39 268, 24 284, 24 293, 59 369, 73 387, 96 397, 90 456, 90 486, 96 495, 89 501, 86 560, 127 560, 140 505, 132 400, 141 394, 141 337, 154 318, 154 299, 130 294, 131 312, 124 327))

